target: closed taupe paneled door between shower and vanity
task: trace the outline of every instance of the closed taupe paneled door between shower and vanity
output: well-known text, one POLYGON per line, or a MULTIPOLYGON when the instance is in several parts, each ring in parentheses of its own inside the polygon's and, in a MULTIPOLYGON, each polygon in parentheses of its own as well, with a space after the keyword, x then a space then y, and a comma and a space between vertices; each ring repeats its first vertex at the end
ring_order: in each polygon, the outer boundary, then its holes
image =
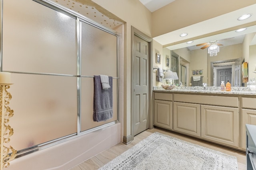
POLYGON ((149 43, 134 35, 133 55, 133 132, 149 128, 149 43))

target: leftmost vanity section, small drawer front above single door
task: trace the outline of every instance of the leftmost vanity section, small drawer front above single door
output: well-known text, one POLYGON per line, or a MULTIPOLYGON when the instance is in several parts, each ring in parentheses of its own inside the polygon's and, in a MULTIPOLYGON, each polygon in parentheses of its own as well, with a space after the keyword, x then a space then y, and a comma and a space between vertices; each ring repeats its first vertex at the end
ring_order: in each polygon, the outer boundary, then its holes
POLYGON ((172 129, 172 94, 154 94, 154 125, 172 129))

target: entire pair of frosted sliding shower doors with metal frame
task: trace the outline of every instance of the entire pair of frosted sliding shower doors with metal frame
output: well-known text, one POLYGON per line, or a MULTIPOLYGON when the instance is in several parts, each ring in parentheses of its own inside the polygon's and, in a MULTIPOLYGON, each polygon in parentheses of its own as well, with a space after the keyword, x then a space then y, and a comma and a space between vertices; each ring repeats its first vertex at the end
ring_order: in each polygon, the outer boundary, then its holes
POLYGON ((82 77, 118 77, 118 35, 42 4, 3 3, 0 64, 2 71, 12 73, 9 106, 14 117, 9 124, 14 135, 9 144, 18 152, 118 120, 118 80, 113 79, 113 118, 96 123, 93 78, 82 77))

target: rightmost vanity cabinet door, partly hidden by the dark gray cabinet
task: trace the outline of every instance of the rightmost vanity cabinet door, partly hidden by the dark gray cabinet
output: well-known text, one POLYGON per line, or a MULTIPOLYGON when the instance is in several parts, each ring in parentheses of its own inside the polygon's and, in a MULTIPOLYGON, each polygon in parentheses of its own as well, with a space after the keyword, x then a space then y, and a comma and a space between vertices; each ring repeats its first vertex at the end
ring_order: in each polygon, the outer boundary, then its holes
POLYGON ((246 129, 245 124, 256 125, 256 110, 242 109, 241 147, 246 149, 246 129))

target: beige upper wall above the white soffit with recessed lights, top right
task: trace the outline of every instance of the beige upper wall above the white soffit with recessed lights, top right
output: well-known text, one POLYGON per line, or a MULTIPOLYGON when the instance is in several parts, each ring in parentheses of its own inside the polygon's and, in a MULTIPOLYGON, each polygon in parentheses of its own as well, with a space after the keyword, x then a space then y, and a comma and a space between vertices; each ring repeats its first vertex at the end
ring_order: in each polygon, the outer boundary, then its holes
POLYGON ((176 0, 152 13, 152 36, 156 37, 255 3, 255 0, 176 0))

